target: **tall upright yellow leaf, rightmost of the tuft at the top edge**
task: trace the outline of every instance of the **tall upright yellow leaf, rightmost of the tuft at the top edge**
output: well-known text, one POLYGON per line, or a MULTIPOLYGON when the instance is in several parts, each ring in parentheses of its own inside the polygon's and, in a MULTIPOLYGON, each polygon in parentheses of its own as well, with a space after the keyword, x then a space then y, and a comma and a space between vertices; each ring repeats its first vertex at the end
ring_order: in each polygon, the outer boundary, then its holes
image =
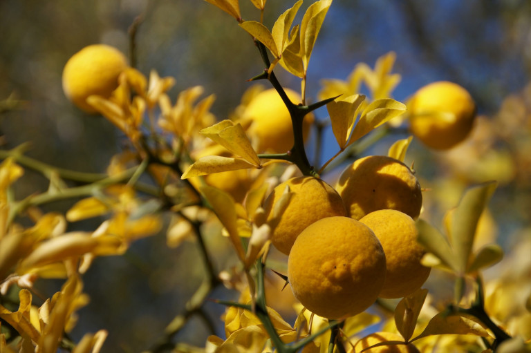
POLYGON ((308 7, 301 22, 301 48, 304 70, 308 68, 308 62, 312 55, 313 46, 321 30, 321 26, 328 12, 332 0, 319 0, 308 7))

